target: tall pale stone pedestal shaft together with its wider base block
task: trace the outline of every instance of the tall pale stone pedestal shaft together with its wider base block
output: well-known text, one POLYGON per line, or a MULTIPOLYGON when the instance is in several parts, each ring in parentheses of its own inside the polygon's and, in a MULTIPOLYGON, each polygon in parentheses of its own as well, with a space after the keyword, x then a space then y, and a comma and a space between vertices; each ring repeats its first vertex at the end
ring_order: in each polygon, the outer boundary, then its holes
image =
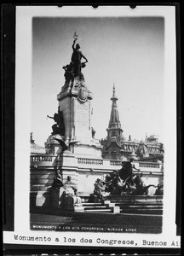
POLYGON ((65 84, 57 99, 65 123, 65 142, 71 144, 73 154, 90 158, 101 158, 101 143, 92 137, 91 100, 92 93, 84 79, 76 77, 71 84, 65 84))

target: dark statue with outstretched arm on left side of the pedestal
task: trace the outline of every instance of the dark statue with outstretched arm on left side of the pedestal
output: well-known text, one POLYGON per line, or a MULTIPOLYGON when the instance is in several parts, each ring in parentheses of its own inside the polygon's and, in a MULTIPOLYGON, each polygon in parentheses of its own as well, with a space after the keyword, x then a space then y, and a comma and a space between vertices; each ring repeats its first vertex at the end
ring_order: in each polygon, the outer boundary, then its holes
POLYGON ((62 111, 60 111, 60 107, 58 107, 58 113, 55 113, 54 117, 49 115, 47 115, 47 117, 49 117, 49 119, 54 119, 56 123, 55 125, 52 125, 52 135, 60 134, 60 136, 65 136, 64 118, 62 111))

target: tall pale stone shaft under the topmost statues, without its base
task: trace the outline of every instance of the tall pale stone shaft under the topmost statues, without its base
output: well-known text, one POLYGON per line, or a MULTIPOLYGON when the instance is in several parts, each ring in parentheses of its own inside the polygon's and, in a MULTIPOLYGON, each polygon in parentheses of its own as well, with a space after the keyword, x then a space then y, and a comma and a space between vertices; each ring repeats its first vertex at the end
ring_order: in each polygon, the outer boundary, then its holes
POLYGON ((75 78, 72 89, 65 84, 57 96, 66 127, 65 140, 89 140, 91 137, 91 99, 84 79, 75 78))

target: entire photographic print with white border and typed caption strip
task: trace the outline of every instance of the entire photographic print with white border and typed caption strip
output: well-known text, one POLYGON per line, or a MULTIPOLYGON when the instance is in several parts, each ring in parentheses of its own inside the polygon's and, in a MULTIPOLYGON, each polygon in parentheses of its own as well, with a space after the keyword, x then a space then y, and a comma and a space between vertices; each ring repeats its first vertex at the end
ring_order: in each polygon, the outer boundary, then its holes
POLYGON ((175 7, 15 14, 14 224, 3 242, 180 248, 175 7))

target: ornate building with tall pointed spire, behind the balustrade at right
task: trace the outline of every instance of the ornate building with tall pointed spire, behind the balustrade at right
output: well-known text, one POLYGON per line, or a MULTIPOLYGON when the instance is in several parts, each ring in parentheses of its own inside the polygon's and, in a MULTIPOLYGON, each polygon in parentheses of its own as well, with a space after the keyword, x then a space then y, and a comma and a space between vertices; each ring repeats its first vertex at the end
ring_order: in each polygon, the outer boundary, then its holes
POLYGON ((163 161, 164 145, 158 143, 158 136, 152 135, 144 141, 124 138, 124 131, 118 115, 118 97, 116 96, 115 86, 112 92, 112 110, 109 124, 106 129, 107 137, 101 140, 102 157, 110 160, 129 160, 133 158, 141 161, 163 161))

